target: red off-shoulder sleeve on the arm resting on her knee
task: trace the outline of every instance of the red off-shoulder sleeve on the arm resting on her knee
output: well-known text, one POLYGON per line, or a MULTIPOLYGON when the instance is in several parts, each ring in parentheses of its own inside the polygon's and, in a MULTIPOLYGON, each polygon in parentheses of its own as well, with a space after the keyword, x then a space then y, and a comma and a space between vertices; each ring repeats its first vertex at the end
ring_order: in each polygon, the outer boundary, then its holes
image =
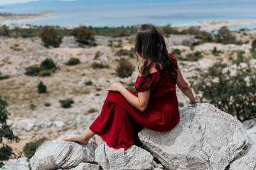
POLYGON ((151 84, 149 84, 150 82, 149 76, 145 77, 144 84, 141 84, 143 77, 138 77, 134 85, 135 89, 137 91, 147 91, 149 89, 154 89, 157 81, 159 80, 159 73, 151 74, 151 75, 152 75, 151 84))

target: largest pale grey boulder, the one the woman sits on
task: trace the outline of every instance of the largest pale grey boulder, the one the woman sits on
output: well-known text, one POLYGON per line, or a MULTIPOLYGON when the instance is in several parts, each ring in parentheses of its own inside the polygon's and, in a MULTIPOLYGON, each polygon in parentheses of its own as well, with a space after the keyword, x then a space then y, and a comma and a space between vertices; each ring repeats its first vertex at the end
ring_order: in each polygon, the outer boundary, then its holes
POLYGON ((208 103, 181 108, 173 129, 139 132, 143 146, 166 169, 225 169, 247 145, 242 123, 208 103))

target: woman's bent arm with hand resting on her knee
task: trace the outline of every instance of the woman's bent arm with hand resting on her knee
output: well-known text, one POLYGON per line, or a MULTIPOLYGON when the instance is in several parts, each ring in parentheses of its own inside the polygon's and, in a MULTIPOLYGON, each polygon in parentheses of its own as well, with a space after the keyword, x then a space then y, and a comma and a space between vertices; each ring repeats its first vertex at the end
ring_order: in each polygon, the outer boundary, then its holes
POLYGON ((149 103, 150 97, 150 89, 147 91, 138 92, 138 97, 131 94, 127 89, 122 86, 120 83, 114 82, 110 85, 110 87, 105 91, 119 91, 122 96, 124 96, 127 101, 134 106, 135 108, 139 109, 139 111, 144 112, 146 107, 149 103))

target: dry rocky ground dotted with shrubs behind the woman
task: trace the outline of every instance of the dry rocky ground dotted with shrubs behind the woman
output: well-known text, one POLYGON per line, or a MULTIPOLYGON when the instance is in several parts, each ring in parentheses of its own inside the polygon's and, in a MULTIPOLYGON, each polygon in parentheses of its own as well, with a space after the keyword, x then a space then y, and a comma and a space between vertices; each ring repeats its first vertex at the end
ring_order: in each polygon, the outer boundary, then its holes
MULTIPOLYGON (((178 61, 183 77, 198 74, 196 69, 208 69, 216 60, 223 59, 230 64, 230 57, 236 57, 237 50, 244 50, 245 57, 250 56, 250 43, 255 38, 255 33, 238 33, 241 40, 249 40, 245 45, 222 45, 217 43, 204 43, 191 50, 182 45, 183 40, 196 41, 193 35, 170 35, 168 50, 179 49, 183 56, 200 51, 203 58, 198 62, 178 61), (213 47, 221 50, 219 56, 212 54, 213 47)), ((11 147, 16 152, 16 157, 23 156, 22 148, 26 142, 46 137, 46 140, 54 140, 64 132, 71 130, 85 130, 100 114, 103 102, 107 96, 105 89, 114 81, 120 81, 124 86, 134 83, 137 79, 137 69, 132 77, 121 79, 115 76, 117 60, 121 57, 129 60, 137 68, 137 59, 128 56, 118 56, 120 49, 131 50, 133 37, 110 38, 97 36, 95 47, 80 47, 73 37, 64 37, 60 47, 44 47, 40 38, 0 38, 0 72, 2 75, 10 75, 9 79, 0 80, 0 93, 7 96, 11 115, 8 124, 14 130, 15 135, 21 138, 18 143, 12 143, 11 147), (110 41, 113 47, 108 46, 110 41), (121 42, 120 42, 121 41, 121 42), (100 56, 96 57, 96 53, 100 56), (80 64, 66 66, 71 57, 80 59, 80 64), (46 58, 51 58, 58 69, 50 77, 30 77, 25 73, 25 67, 40 64, 46 58), (99 62, 108 64, 109 68, 93 69, 91 64, 99 62), (39 81, 47 86, 46 94, 38 94, 39 81), (86 86, 86 81, 92 81, 92 86, 86 86), (71 108, 62 108, 59 100, 73 98, 71 108), (49 107, 44 106, 48 102, 49 107), (31 104, 36 106, 30 108, 31 104), (93 113, 92 110, 95 110, 93 113)), ((256 60, 250 61, 252 64, 256 60)), ((184 105, 188 99, 177 88, 178 101, 184 105)), ((98 138, 97 138, 98 139, 98 138)))

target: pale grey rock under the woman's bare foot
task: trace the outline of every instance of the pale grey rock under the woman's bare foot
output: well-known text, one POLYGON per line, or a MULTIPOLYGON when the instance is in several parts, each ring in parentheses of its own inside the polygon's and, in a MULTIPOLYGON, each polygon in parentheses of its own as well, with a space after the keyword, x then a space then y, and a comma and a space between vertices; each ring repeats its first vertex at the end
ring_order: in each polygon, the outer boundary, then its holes
MULTIPOLYGON (((75 130, 65 135, 70 133, 82 134, 81 131, 75 130)), ((79 142, 64 141, 65 135, 38 147, 30 159, 31 169, 68 169, 78 166, 81 162, 95 162, 95 148, 97 147, 95 137, 92 137, 87 145, 83 145, 79 142)))

